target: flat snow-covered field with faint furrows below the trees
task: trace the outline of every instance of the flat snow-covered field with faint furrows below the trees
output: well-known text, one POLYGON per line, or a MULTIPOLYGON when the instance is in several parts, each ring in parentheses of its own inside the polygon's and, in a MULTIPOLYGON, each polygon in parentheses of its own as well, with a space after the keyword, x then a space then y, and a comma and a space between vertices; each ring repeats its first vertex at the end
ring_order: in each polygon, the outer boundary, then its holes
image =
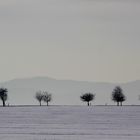
POLYGON ((0 108, 0 140, 140 140, 140 107, 0 108))

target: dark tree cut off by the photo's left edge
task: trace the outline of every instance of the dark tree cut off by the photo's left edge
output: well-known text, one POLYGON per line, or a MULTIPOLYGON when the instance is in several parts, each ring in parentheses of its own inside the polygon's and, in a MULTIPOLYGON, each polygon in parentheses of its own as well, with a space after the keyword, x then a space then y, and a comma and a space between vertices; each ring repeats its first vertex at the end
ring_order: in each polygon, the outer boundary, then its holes
POLYGON ((5 101, 8 98, 8 90, 6 88, 0 88, 0 99, 2 100, 3 106, 5 105, 5 101))

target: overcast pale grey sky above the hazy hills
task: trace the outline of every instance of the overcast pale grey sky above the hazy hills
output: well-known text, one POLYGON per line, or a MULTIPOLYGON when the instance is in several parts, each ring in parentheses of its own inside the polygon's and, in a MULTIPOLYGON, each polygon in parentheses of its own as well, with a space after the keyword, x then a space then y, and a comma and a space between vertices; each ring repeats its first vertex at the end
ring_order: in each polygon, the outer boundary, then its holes
POLYGON ((1 0, 0 81, 140 79, 139 0, 1 0))

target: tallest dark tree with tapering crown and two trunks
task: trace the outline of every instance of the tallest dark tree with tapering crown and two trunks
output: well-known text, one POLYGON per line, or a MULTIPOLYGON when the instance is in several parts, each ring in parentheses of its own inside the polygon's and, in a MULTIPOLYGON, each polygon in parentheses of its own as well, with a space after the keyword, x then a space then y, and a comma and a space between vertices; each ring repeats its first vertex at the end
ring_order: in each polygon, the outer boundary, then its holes
POLYGON ((121 87, 115 87, 115 89, 112 92, 112 100, 117 102, 117 106, 119 106, 119 103, 122 106, 122 102, 126 100, 126 97, 123 94, 123 90, 121 87))

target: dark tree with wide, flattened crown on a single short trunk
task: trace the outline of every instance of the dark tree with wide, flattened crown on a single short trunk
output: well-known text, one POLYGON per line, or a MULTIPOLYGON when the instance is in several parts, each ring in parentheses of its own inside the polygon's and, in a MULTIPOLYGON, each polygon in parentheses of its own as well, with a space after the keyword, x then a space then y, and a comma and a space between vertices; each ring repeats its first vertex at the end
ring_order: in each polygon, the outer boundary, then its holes
POLYGON ((87 105, 89 106, 90 105, 90 102, 92 100, 94 100, 95 98, 95 94, 92 94, 92 93, 85 93, 83 95, 80 96, 81 100, 83 102, 87 102, 87 105))

